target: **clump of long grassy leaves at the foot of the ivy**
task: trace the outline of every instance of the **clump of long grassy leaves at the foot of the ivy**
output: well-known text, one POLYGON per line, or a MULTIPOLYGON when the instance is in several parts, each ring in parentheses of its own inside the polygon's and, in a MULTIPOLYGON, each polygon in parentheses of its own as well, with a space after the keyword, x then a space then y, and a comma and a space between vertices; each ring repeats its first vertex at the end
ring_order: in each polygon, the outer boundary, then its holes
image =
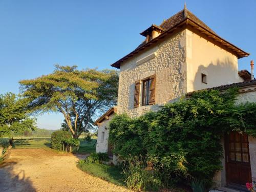
POLYGON ((137 157, 129 158, 126 163, 123 175, 127 187, 135 191, 159 191, 163 187, 161 174, 156 167, 147 166, 137 157))

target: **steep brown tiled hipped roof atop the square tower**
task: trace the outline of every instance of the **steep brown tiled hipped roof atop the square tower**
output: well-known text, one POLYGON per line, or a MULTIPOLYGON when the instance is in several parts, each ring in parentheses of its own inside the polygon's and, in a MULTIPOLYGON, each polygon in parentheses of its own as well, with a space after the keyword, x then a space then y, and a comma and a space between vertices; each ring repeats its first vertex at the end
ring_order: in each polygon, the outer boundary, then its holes
MULTIPOLYGON (((128 55, 124 56, 123 58, 119 59, 118 61, 113 63, 111 66, 116 67, 116 68, 120 68, 120 63, 123 62, 125 59, 127 59, 129 57, 132 57, 133 55, 139 53, 141 50, 144 50, 146 47, 150 47, 152 44, 157 42, 157 40, 159 38, 163 38, 164 35, 166 35, 165 33, 168 33, 170 31, 174 30, 175 28, 177 28, 177 26, 179 26, 183 22, 185 22, 185 20, 190 20, 194 25, 197 25, 199 28, 202 28, 202 30, 205 30, 207 33, 209 33, 210 37, 217 38, 218 42, 221 42, 221 44, 223 44, 224 46, 227 46, 229 49, 231 47, 232 50, 235 50, 237 52, 237 54, 239 54, 239 58, 249 55, 248 53, 244 52, 243 50, 241 50, 241 49, 237 48, 236 46, 230 44, 228 41, 222 39, 213 30, 211 30, 205 23, 203 23, 202 20, 200 20, 196 15, 194 15, 193 13, 188 11, 186 8, 184 8, 183 10, 179 11, 178 13, 173 15, 172 17, 166 19, 159 26, 162 29, 164 29, 164 32, 161 35, 159 35, 158 37, 156 37, 156 38, 154 38, 154 39, 152 39, 151 41, 148 41, 148 42, 146 42, 145 40, 142 41, 141 44, 134 51, 132 51, 128 55)), ((188 25, 188 24, 186 24, 186 25, 188 25)))

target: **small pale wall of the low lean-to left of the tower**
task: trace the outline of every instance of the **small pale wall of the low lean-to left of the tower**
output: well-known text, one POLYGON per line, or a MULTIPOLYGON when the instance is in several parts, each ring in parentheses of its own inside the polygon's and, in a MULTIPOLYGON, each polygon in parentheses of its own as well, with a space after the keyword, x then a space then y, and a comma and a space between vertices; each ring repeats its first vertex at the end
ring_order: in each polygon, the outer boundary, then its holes
POLYGON ((114 117, 114 114, 109 116, 109 119, 105 119, 101 122, 98 130, 98 139, 96 145, 96 153, 108 152, 108 140, 109 140, 109 122, 114 117), (106 128, 106 129, 105 129, 106 128), (104 132, 104 140, 102 141, 102 132, 104 132))

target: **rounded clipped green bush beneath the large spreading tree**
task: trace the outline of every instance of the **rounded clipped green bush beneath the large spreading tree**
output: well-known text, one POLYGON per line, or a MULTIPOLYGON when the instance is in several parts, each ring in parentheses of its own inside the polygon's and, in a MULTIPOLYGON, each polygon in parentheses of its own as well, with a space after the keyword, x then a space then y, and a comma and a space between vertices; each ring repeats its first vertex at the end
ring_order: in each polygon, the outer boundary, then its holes
POLYGON ((67 131, 53 132, 51 137, 51 147, 54 148, 55 150, 61 151, 63 141, 71 137, 71 133, 67 131))

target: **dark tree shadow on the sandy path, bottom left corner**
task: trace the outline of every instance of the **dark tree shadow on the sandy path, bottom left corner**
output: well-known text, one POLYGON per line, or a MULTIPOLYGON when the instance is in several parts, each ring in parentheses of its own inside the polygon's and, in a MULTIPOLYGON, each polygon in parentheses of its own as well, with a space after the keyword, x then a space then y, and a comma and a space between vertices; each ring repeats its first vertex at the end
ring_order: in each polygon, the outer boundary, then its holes
POLYGON ((15 161, 7 161, 0 165, 0 191, 5 192, 35 192, 32 181, 25 177, 25 171, 14 173, 15 161))

